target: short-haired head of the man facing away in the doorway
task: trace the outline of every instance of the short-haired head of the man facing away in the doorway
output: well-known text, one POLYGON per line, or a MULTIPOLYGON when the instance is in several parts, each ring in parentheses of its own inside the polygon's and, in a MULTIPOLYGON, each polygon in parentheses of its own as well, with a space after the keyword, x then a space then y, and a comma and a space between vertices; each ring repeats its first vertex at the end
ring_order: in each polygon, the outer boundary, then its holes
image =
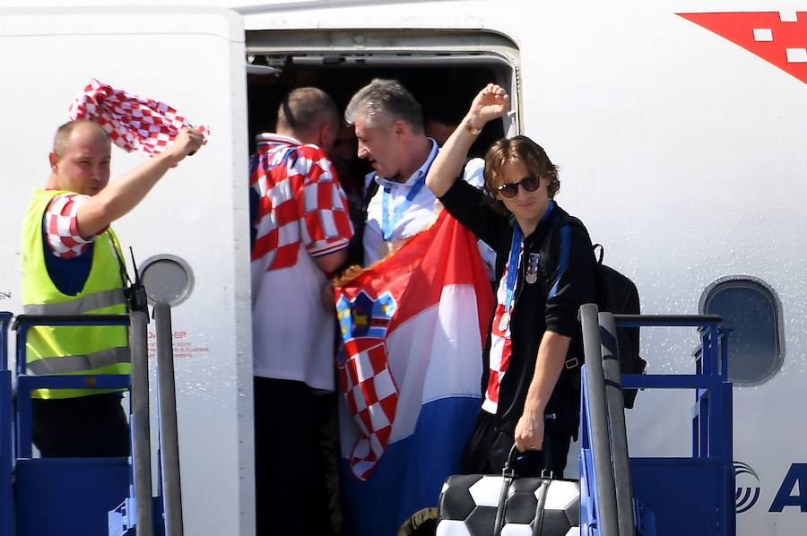
POLYGON ((339 110, 330 95, 317 88, 298 88, 277 109, 276 131, 290 134, 302 143, 316 143, 328 151, 339 130, 339 121, 339 110), (323 125, 329 125, 330 139, 321 139, 323 125))

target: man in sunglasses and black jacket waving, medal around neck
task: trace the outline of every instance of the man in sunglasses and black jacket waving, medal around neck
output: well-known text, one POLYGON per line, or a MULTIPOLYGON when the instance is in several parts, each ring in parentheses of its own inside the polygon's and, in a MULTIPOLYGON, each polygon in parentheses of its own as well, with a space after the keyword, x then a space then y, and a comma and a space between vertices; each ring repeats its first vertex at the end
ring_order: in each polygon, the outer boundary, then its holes
POLYGON ((579 425, 577 310, 594 301, 594 255, 586 229, 569 223, 554 202, 557 167, 529 138, 490 146, 484 170, 490 195, 455 179, 482 127, 507 110, 504 89, 489 84, 480 91, 426 178, 447 211, 497 254, 482 411, 463 469, 501 471, 515 442, 520 452, 547 446, 560 476, 579 425))

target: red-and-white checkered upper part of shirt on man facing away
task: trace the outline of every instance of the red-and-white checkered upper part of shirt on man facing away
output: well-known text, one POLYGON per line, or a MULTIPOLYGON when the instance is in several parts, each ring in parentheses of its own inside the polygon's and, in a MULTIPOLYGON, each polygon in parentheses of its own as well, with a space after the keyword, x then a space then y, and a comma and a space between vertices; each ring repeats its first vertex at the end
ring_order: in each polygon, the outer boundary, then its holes
POLYGON ((252 261, 266 271, 297 264, 300 244, 308 255, 348 245, 353 229, 348 202, 331 162, 316 145, 265 135, 249 162, 253 207, 252 261))

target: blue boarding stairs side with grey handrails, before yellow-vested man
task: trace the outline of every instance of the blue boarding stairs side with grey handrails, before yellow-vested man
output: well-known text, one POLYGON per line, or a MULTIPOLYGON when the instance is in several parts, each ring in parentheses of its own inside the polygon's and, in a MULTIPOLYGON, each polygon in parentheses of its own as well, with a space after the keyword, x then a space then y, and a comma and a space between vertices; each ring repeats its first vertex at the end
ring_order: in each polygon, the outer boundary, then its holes
POLYGON ((181 536, 176 394, 170 310, 155 306, 158 367, 158 485, 152 496, 148 323, 128 315, 39 316, 0 312, 0 536, 181 536), (13 324, 12 324, 13 320, 13 324), (26 340, 38 325, 126 325, 133 372, 104 376, 30 376, 26 340), (16 374, 8 367, 16 332, 16 374), (127 389, 129 458, 34 458, 34 389, 127 389))

